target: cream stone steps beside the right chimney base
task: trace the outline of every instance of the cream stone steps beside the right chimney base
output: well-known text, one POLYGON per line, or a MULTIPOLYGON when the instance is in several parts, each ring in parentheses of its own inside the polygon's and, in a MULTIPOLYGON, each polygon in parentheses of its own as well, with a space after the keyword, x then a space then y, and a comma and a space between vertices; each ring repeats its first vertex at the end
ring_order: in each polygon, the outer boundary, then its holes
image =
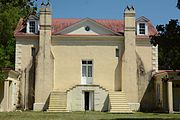
POLYGON ((132 113, 128 105, 126 94, 122 91, 109 92, 111 113, 132 113))

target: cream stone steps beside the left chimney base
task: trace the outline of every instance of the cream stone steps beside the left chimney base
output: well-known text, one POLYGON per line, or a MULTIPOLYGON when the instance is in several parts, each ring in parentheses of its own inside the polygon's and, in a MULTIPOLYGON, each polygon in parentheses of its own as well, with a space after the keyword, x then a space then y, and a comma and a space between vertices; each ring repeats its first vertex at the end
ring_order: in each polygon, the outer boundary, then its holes
POLYGON ((50 94, 48 112, 67 112, 67 93, 53 91, 50 94))

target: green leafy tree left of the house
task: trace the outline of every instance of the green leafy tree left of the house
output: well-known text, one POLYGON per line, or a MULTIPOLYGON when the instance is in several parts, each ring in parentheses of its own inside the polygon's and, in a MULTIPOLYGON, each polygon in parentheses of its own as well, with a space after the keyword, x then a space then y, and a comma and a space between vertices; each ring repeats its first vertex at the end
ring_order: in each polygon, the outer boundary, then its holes
MULTIPOLYGON (((36 13, 37 0, 0 0, 0 74, 2 68, 14 68, 14 29, 20 17, 36 13)), ((0 79, 1 79, 0 75, 0 79)))

